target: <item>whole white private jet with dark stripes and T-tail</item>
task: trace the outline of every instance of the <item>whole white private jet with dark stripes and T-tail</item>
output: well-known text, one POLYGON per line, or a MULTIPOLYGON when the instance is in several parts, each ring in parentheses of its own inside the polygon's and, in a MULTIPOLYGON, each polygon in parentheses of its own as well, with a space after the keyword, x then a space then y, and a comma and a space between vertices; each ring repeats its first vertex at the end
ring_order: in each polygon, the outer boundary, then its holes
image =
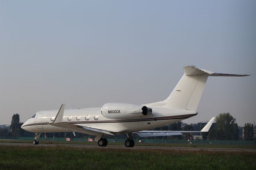
POLYGON ((170 125, 197 115, 196 109, 209 76, 248 76, 214 73, 195 66, 183 67, 184 75, 170 94, 160 102, 144 105, 106 103, 99 108, 39 111, 21 128, 35 132, 33 144, 38 144, 41 132, 75 132, 95 135, 99 146, 107 146, 104 134, 125 134, 126 147, 133 147, 132 134, 140 137, 172 136, 183 133, 208 132, 215 117, 201 131, 152 131, 148 129, 170 125))

